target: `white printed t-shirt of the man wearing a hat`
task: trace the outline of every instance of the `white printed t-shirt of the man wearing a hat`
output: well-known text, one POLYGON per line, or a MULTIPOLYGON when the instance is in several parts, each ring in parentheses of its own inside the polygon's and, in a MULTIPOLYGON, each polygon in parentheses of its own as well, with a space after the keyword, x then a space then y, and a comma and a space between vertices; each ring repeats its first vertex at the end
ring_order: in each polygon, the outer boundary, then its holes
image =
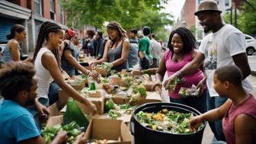
MULTIPOLYGON (((220 30, 203 38, 199 51, 205 56, 204 68, 210 96, 218 96, 219 94, 213 88, 214 71, 220 66, 235 65, 232 56, 245 53, 245 36, 232 25, 225 24, 220 30)), ((253 89, 248 78, 242 81, 242 85, 247 92, 251 92, 253 89)))

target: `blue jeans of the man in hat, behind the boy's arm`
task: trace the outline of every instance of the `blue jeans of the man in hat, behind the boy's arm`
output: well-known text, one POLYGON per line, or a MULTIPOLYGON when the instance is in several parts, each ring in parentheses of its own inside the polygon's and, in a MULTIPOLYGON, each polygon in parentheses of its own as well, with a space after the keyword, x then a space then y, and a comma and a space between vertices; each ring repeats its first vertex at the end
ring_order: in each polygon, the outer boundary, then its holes
MULTIPOLYGON (((222 104, 226 102, 228 98, 221 97, 210 97, 210 94, 207 94, 207 110, 213 110, 217 107, 220 107, 222 104)), ((210 128, 213 131, 213 134, 217 141, 226 142, 223 130, 222 130, 222 120, 218 120, 216 122, 209 122, 210 128)))

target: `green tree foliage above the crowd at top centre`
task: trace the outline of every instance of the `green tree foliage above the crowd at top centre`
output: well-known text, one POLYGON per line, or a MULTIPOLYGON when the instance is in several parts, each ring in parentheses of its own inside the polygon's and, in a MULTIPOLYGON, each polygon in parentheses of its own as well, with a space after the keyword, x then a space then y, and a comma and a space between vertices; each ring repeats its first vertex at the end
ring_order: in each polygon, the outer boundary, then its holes
MULTIPOLYGON (((173 24, 170 14, 160 13, 167 0, 61 0, 66 9, 68 25, 91 25, 105 29, 104 22, 118 21, 125 30, 149 26, 152 32, 173 24)), ((164 30, 162 30, 164 31, 164 30)), ((165 38, 165 37, 164 37, 165 38)))

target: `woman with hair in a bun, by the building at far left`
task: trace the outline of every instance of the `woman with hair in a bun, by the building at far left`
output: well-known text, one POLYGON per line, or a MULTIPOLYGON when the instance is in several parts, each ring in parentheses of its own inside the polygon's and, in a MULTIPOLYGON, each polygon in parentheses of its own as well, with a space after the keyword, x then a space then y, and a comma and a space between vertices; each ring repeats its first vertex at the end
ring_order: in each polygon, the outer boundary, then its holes
POLYGON ((6 37, 8 43, 2 50, 2 62, 19 61, 21 60, 21 46, 20 43, 24 42, 27 32, 25 27, 21 24, 15 24, 11 27, 11 34, 6 37))

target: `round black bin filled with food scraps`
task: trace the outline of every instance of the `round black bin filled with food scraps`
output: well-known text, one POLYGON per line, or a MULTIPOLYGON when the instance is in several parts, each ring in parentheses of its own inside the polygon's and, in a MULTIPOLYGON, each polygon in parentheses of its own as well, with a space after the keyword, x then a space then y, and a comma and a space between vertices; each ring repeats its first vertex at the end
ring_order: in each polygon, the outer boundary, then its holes
POLYGON ((136 114, 139 111, 144 112, 155 112, 162 109, 168 110, 175 110, 181 113, 193 113, 195 116, 200 115, 200 112, 192 107, 188 107, 184 104, 177 104, 177 103, 149 103, 149 104, 142 104, 141 106, 137 107, 133 111, 133 116, 131 118, 130 128, 131 133, 134 136, 134 143, 135 144, 201 144, 203 138, 203 130, 206 126, 206 122, 204 122, 203 129, 197 131, 196 133, 165 133, 160 131, 151 130, 142 126, 139 121, 136 119, 136 114))

